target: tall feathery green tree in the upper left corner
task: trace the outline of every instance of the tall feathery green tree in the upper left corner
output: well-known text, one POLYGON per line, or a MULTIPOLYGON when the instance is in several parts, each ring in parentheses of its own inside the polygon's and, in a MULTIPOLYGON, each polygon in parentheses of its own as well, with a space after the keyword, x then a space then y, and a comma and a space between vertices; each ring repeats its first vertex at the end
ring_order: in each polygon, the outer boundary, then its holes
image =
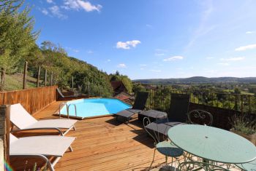
POLYGON ((29 17, 29 7, 19 12, 22 4, 20 0, 0 1, 0 90, 4 90, 5 73, 17 70, 20 59, 36 46, 39 32, 33 32, 34 20, 29 17))

